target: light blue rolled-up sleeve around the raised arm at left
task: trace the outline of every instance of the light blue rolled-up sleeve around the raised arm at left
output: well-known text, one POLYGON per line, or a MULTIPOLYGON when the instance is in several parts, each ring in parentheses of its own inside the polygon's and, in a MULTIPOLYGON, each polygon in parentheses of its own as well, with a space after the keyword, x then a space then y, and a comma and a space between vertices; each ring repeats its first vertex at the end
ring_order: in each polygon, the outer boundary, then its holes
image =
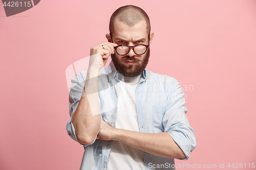
MULTIPOLYGON (((70 86, 70 92, 69 92, 69 114, 70 114, 70 118, 68 120, 66 130, 67 130, 69 136, 77 142, 78 142, 78 140, 76 138, 75 128, 74 128, 74 125, 72 123, 72 115, 75 112, 75 110, 76 110, 76 108, 79 104, 79 101, 81 99, 84 83, 85 83, 85 80, 86 80, 86 76, 87 76, 87 71, 78 72, 78 74, 75 75, 74 78, 71 80, 71 86, 70 86)), ((99 100, 99 102, 100 102, 100 100, 99 100)), ((96 138, 97 138, 97 135, 96 135, 96 137, 95 137, 95 139, 92 143, 95 142, 96 138)), ((88 145, 81 144, 81 145, 83 145, 84 147, 87 147, 90 144, 88 144, 88 145)))

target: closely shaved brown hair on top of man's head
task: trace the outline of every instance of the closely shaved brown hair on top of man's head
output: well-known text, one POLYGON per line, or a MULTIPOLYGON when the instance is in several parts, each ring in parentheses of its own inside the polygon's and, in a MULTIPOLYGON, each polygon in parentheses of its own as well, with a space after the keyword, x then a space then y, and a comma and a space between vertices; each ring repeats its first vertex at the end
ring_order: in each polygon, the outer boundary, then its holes
POLYGON ((111 16, 110 18, 110 33, 113 35, 115 32, 114 29, 114 22, 115 20, 119 20, 123 23, 125 23, 127 26, 133 27, 137 23, 139 23, 141 20, 146 21, 147 25, 147 31, 148 34, 150 33, 150 18, 148 18, 145 11, 143 11, 141 8, 133 6, 133 5, 127 5, 118 8, 111 16))

